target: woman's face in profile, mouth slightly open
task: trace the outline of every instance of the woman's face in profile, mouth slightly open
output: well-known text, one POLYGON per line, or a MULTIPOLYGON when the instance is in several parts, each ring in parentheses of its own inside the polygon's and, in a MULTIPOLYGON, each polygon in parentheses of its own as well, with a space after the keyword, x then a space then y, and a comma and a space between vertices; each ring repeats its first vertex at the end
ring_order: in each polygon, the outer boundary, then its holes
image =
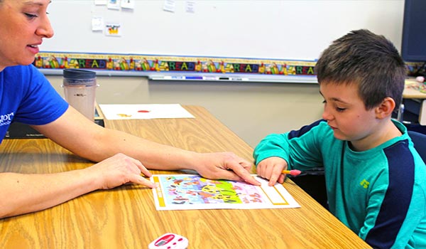
POLYGON ((33 63, 43 38, 53 36, 47 16, 50 0, 3 0, 0 3, 0 70, 33 63))

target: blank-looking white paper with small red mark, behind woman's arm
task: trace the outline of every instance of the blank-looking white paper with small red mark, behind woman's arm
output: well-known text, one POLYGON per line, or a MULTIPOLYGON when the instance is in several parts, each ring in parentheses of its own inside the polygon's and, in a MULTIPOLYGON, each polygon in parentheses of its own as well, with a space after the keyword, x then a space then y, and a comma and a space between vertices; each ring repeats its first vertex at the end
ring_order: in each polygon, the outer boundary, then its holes
POLYGON ((99 105, 107 120, 195 118, 179 104, 99 105))

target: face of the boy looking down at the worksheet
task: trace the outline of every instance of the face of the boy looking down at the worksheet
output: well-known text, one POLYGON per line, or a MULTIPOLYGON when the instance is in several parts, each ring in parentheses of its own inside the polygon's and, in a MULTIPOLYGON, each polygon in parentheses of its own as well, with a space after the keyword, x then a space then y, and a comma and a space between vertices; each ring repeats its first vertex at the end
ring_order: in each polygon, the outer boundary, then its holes
POLYGON ((323 83, 320 93, 324 97, 322 118, 327 120, 337 139, 352 143, 365 141, 378 128, 375 108, 366 110, 357 84, 323 83))

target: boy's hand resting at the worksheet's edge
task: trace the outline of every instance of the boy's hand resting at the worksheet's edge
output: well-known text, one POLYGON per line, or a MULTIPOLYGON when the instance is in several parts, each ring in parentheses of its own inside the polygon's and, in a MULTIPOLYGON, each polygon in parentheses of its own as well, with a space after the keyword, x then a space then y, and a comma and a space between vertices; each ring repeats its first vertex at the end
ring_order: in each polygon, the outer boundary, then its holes
POLYGON ((273 186, 277 181, 280 184, 284 183, 285 174, 282 174, 282 172, 287 167, 287 161, 284 159, 280 157, 268 157, 258 163, 256 171, 258 176, 269 180, 269 186, 273 186))

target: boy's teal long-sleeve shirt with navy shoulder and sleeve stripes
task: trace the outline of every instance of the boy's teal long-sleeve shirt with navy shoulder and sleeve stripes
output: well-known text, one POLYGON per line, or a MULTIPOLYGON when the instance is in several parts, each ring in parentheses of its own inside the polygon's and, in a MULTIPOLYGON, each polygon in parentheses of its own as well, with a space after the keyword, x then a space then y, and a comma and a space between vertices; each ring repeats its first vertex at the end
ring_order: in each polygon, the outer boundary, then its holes
POLYGON ((426 165, 407 129, 355 152, 324 120, 270 134, 254 150, 256 165, 281 157, 289 169, 324 166, 329 210, 373 248, 426 248, 426 165))

